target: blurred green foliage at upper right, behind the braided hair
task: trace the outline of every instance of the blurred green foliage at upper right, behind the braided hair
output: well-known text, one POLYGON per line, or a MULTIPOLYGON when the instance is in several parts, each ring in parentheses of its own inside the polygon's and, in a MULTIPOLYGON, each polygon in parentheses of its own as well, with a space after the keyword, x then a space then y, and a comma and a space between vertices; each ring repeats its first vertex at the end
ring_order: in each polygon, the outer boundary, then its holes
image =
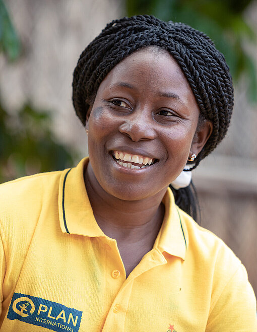
POLYGON ((224 54, 234 81, 247 78, 248 96, 257 102, 254 59, 245 44, 255 43, 255 31, 244 11, 253 0, 125 0, 127 15, 148 14, 164 21, 186 23, 205 32, 224 54))

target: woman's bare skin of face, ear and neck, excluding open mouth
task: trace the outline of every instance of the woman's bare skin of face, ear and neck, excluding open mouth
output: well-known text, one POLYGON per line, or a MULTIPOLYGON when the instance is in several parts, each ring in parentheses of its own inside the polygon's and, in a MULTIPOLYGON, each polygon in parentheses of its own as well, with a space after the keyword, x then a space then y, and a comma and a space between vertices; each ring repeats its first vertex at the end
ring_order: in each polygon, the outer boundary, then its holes
POLYGON ((86 122, 90 162, 84 178, 96 221, 116 239, 126 275, 153 247, 167 187, 211 135, 209 121, 196 131, 198 119, 194 94, 166 51, 149 47, 131 54, 99 86, 86 122), (156 162, 124 168, 114 150, 156 162))

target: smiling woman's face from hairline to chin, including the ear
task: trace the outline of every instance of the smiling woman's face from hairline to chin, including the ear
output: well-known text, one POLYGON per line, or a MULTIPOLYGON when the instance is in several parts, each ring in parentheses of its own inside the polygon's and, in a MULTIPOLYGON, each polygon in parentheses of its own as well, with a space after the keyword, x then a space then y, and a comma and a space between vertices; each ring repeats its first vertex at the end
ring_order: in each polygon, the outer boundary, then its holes
POLYGON ((89 109, 92 176, 109 194, 135 201, 165 192, 211 134, 196 133, 199 108, 172 56, 152 48, 116 65, 89 109))

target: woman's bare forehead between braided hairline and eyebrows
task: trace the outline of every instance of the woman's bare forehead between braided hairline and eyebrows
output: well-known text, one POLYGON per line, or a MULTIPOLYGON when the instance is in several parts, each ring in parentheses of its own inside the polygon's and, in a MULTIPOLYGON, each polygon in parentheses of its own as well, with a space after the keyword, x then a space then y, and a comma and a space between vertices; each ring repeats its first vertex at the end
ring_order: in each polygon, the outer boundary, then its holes
POLYGON ((132 53, 108 73, 98 90, 126 84, 141 94, 174 94, 185 104, 193 103, 198 108, 187 79, 166 50, 150 46, 132 53))

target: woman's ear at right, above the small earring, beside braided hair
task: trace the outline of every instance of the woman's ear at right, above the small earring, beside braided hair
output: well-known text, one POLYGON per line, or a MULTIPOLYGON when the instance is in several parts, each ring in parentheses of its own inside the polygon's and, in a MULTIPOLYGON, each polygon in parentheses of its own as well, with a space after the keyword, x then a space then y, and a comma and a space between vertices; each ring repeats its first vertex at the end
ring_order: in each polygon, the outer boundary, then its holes
POLYGON ((198 155, 203 147, 205 146, 206 142, 210 138, 213 130, 213 123, 212 121, 205 120, 200 128, 197 128, 195 133, 194 139, 192 140, 190 154, 198 155))

